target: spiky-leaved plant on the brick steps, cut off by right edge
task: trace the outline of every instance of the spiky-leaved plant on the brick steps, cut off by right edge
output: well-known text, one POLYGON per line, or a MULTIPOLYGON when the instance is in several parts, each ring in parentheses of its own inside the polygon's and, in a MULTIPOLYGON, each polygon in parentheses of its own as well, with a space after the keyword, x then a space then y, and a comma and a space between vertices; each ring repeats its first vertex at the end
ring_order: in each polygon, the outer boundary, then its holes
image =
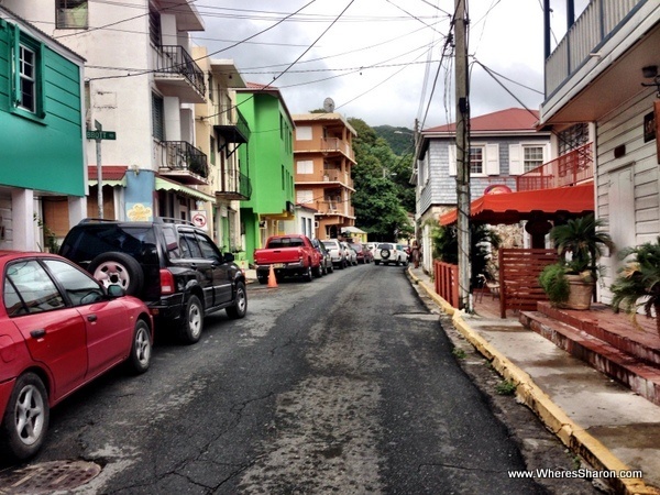
POLYGON ((620 253, 624 258, 630 255, 609 287, 614 295, 612 307, 618 312, 623 306, 635 322, 638 308, 644 308, 647 318, 654 311, 656 330, 660 336, 660 237, 654 243, 627 248, 620 253))

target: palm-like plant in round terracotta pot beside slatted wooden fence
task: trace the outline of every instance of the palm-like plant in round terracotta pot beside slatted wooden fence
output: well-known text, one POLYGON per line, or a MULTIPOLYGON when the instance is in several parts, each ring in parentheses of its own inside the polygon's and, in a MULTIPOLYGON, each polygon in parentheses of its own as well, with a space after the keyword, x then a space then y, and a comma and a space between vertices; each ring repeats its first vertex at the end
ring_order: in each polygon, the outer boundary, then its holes
POLYGON ((602 220, 588 215, 550 230, 560 261, 541 272, 539 283, 551 304, 569 309, 591 307, 601 271, 597 261, 604 248, 614 246, 609 234, 597 230, 602 226, 602 220))

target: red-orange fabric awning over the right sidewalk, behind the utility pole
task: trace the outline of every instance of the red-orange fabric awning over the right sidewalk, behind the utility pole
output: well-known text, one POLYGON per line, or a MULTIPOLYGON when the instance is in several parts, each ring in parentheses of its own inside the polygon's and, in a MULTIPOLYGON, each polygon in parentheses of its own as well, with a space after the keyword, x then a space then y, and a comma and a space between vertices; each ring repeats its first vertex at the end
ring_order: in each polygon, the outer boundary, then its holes
MULTIPOLYGON (((517 223, 521 220, 554 220, 594 212, 593 183, 554 189, 522 190, 499 195, 485 195, 470 204, 473 223, 517 223)), ((453 209, 440 216, 440 224, 457 221, 453 209)))

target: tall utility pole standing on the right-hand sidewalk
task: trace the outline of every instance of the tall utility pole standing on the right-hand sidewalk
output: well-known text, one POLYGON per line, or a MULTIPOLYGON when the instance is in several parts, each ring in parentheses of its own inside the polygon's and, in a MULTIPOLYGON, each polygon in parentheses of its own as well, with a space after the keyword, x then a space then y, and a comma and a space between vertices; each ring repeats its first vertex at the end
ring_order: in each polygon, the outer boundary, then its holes
POLYGON ((459 241, 459 309, 472 311, 470 294, 470 100, 468 81, 468 19, 465 3, 455 0, 457 69, 457 209, 459 241))

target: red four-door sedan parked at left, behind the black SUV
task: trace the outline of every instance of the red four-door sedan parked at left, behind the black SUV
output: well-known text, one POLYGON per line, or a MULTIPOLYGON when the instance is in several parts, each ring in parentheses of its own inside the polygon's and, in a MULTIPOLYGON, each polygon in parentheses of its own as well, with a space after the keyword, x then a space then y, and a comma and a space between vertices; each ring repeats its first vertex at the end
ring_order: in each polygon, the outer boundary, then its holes
POLYGON ((0 251, 0 452, 24 460, 41 449, 53 406, 120 363, 148 369, 153 319, 56 254, 0 251))

